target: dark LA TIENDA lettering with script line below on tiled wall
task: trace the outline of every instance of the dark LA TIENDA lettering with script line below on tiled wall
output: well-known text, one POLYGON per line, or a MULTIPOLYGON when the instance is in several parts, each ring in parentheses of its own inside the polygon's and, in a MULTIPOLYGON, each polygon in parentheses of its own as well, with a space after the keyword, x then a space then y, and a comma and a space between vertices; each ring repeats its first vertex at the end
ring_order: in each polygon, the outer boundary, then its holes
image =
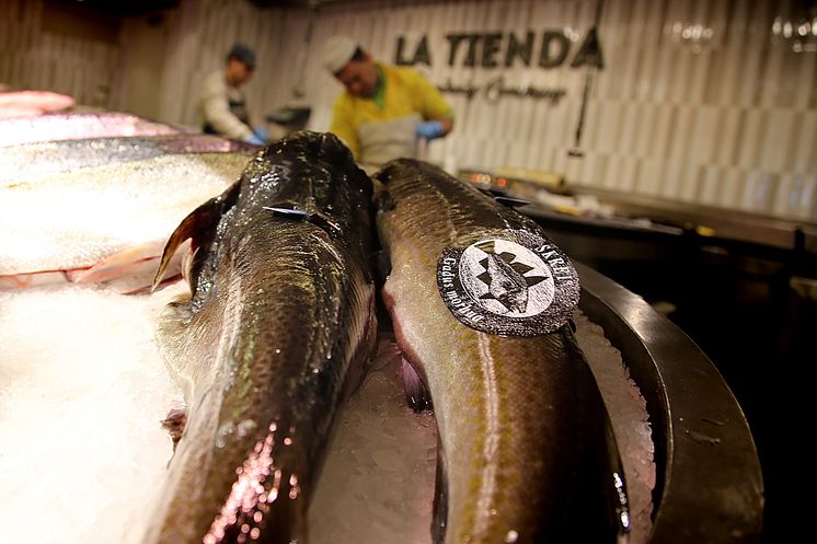
MULTIPOLYGON (((442 58, 448 67, 483 68, 499 72, 481 85, 473 82, 454 83, 450 78, 445 84, 438 85, 445 93, 463 94, 468 99, 483 93, 491 102, 500 96, 513 95, 545 99, 556 104, 566 94, 564 88, 508 86, 505 83, 505 70, 520 66, 544 70, 565 66, 573 69, 603 68, 596 27, 591 27, 580 42, 574 42, 564 30, 555 28, 541 33, 527 31, 523 34, 515 32, 451 33, 446 35, 446 45, 442 58)), ((430 68, 438 58, 438 54, 439 51, 431 51, 428 36, 425 34, 414 40, 398 36, 394 63, 398 66, 426 65, 430 68)))

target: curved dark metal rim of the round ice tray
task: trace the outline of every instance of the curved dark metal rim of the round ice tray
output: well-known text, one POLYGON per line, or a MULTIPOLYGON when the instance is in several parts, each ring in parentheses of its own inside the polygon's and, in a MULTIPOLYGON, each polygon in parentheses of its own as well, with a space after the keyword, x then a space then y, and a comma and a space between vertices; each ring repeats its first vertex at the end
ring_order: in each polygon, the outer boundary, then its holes
POLYGON ((582 280, 579 308, 621 351, 647 403, 656 463, 651 544, 759 542, 760 462, 721 373, 644 299, 574 265, 582 280))

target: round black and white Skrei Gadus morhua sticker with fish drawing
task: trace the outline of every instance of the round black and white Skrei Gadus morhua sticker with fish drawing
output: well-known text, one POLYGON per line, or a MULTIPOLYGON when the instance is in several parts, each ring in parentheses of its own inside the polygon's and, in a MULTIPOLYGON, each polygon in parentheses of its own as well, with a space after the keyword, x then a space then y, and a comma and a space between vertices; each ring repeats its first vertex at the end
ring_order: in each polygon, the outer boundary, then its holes
POLYGON ((552 333, 573 314, 579 282, 567 256, 539 234, 513 230, 447 247, 437 287, 463 324, 490 334, 552 333))

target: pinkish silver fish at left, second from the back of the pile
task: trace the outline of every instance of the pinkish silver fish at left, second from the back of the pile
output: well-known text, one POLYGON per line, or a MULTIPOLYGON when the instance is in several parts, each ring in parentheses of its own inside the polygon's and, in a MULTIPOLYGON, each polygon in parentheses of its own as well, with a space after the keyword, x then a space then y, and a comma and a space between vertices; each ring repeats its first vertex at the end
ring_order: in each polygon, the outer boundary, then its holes
POLYGON ((157 136, 179 132, 184 132, 184 130, 136 115, 117 112, 46 114, 0 119, 0 148, 35 141, 108 136, 157 136))

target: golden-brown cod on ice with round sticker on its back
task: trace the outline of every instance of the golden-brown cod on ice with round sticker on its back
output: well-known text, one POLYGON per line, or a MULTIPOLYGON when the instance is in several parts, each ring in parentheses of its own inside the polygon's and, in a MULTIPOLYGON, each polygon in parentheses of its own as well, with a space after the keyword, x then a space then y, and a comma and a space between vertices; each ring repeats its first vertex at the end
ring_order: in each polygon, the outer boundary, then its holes
MULTIPOLYGON (((458 321, 438 290, 438 258, 449 247, 541 230, 427 163, 393 161, 376 178, 384 185, 378 233, 391 263, 383 299, 439 431, 435 542, 625 539, 618 450, 569 326, 529 337, 480 332, 458 321)), ((485 297, 513 294, 505 303, 514 309, 520 299, 507 287, 518 275, 503 261, 482 261, 483 274, 505 286, 485 297)))

